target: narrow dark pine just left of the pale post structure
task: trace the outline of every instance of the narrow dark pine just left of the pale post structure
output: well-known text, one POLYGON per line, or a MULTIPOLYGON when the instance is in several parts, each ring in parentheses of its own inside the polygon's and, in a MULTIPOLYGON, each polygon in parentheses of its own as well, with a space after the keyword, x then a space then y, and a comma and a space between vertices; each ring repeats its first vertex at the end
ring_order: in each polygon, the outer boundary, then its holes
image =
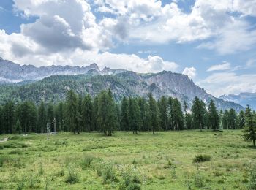
POLYGON ((45 110, 45 103, 42 101, 38 107, 38 123, 37 132, 46 132, 47 113, 45 110))

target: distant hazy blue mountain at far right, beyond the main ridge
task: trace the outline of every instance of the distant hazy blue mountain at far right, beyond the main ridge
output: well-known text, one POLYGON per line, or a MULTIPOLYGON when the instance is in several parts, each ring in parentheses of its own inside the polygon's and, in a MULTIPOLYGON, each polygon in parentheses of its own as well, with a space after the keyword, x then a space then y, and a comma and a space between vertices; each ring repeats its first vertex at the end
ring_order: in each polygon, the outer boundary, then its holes
POLYGON ((244 92, 238 95, 229 94, 219 96, 220 99, 224 99, 225 101, 235 102, 237 104, 241 104, 246 107, 249 104, 254 110, 256 110, 256 93, 244 92))

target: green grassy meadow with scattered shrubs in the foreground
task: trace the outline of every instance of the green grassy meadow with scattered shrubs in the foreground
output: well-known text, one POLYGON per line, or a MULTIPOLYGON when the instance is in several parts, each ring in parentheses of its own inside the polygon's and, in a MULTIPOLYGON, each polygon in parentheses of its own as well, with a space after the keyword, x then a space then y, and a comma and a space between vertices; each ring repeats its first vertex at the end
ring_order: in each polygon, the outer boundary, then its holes
POLYGON ((0 189, 248 189, 256 176, 239 130, 4 137, 0 189))

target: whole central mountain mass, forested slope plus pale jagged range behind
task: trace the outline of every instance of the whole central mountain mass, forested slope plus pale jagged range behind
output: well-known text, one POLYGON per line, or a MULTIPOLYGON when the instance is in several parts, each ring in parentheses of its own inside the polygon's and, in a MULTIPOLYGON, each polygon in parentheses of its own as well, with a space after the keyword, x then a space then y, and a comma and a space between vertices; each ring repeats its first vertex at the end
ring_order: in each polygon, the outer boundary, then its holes
POLYGON ((241 110, 241 105, 217 99, 207 94, 203 88, 196 86, 187 77, 174 72, 139 74, 124 69, 99 70, 97 64, 90 66, 20 66, 11 61, 0 61, 0 77, 4 83, 0 85, 0 103, 12 99, 15 101, 41 100, 59 102, 65 98, 67 91, 73 89, 78 94, 89 93, 95 96, 100 91, 110 88, 116 100, 123 96, 148 96, 156 99, 161 96, 177 97, 181 102, 187 101, 189 106, 195 96, 206 104, 213 99, 220 110, 241 110), (30 68, 30 69, 28 69, 30 68), (50 77, 48 77, 50 75, 50 77), (12 81, 22 81, 11 83, 12 81))

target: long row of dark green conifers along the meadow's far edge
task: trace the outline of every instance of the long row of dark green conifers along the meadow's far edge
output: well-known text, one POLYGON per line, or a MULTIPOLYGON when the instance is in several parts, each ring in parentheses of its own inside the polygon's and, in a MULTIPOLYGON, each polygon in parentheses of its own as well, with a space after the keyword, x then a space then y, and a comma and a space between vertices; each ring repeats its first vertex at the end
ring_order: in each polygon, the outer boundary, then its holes
MULTIPOLYGON (((256 118, 255 112, 250 113, 256 118)), ((238 114, 233 109, 218 112, 213 101, 206 105, 197 97, 189 110, 187 102, 166 96, 158 101, 151 94, 148 98, 124 97, 116 103, 111 91, 102 91, 94 99, 68 91, 66 100, 58 104, 10 101, 0 106, 0 134, 45 133, 54 118, 57 132, 96 131, 109 136, 118 130, 154 134, 163 130, 243 129, 246 123, 243 110, 238 114)), ((50 132, 53 127, 51 124, 50 132)))

